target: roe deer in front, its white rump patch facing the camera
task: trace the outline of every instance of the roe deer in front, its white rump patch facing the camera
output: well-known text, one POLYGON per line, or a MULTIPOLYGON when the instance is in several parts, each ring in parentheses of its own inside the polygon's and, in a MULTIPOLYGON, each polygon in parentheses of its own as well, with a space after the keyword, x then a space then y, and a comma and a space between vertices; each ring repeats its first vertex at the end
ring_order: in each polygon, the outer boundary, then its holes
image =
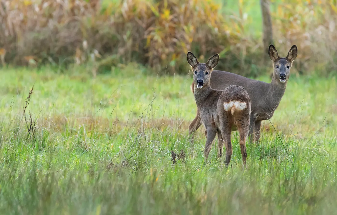
POLYGON ((201 121, 207 130, 207 141, 204 150, 205 163, 211 150, 214 137, 218 134, 218 158, 222 156, 225 142, 225 165, 228 168, 233 153, 231 132, 234 129, 240 133, 240 148, 243 164, 246 167, 246 139, 249 132, 250 99, 247 91, 241 86, 228 86, 224 90, 211 88, 210 76, 213 68, 219 62, 219 55, 211 57, 207 63, 199 63, 196 57, 187 53, 187 61, 192 67, 193 93, 201 121))

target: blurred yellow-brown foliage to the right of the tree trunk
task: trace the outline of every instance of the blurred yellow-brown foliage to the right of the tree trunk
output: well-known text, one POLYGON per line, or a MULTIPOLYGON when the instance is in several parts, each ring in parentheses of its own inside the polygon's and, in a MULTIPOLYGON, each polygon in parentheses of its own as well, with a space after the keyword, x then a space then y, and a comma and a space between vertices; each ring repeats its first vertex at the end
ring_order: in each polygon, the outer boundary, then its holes
POLYGON ((282 52, 292 44, 298 46, 295 68, 300 74, 336 74, 336 0, 282 0, 273 21, 275 41, 282 52))

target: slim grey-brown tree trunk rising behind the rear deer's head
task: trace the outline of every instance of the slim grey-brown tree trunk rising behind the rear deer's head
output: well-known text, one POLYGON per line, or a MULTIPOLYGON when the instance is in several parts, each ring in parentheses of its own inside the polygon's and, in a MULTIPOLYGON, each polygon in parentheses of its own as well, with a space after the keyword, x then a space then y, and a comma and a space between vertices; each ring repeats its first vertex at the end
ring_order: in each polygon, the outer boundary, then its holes
POLYGON ((268 57, 269 45, 273 43, 273 25, 269 10, 269 0, 260 0, 263 22, 263 47, 265 59, 268 57))

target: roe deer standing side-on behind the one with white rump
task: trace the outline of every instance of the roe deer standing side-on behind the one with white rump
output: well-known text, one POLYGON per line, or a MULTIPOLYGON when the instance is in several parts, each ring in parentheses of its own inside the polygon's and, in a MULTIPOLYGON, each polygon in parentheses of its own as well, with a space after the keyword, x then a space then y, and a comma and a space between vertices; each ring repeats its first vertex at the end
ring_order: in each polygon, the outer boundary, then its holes
MULTIPOLYGON (((213 89, 223 90, 229 85, 238 85, 244 87, 250 97, 250 142, 258 141, 260 138, 261 121, 270 119, 282 99, 287 82, 290 76, 290 68, 297 57, 297 47, 293 45, 285 58, 279 57, 274 45, 269 46, 269 57, 273 61, 273 78, 271 83, 256 81, 245 78, 241 75, 214 70, 212 72, 211 87, 213 89)), ((191 90, 194 93, 193 82, 191 90)), ((194 140, 194 133, 200 127, 200 110, 197 109, 195 119, 189 125, 189 134, 191 141, 194 140)), ((207 130, 205 131, 207 136, 207 130)))

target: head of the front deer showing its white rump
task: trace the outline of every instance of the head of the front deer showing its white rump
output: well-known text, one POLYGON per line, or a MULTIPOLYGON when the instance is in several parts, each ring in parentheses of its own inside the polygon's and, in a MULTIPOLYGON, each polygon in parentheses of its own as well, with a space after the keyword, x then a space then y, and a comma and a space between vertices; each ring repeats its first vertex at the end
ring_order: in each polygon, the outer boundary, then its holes
POLYGON ((219 55, 215 54, 207 63, 199 63, 192 52, 187 53, 187 62, 192 67, 193 83, 197 89, 210 86, 211 72, 219 62, 219 55))

